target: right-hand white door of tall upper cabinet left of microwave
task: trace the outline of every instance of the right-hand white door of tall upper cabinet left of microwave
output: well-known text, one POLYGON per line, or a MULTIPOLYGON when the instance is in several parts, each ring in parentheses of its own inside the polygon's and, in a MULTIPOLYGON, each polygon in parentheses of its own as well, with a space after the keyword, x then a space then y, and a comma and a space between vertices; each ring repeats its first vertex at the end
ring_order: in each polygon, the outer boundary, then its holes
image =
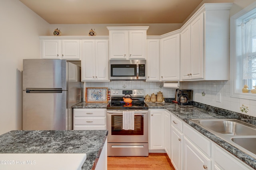
POLYGON ((96 40, 95 78, 97 81, 108 81, 108 40, 96 40))

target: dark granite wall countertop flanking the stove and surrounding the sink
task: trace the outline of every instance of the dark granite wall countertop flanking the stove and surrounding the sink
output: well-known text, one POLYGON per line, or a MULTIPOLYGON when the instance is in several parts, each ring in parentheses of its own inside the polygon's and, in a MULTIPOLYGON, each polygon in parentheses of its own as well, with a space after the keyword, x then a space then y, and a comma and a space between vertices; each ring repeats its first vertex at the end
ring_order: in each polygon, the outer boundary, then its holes
MULTIPOLYGON (((171 100, 170 100, 171 101, 171 100)), ((256 117, 243 115, 240 113, 220 109, 218 107, 208 106, 197 102, 192 102, 193 106, 180 106, 178 104, 164 102, 164 103, 146 103, 149 109, 167 109, 174 115, 188 123, 191 127, 202 133, 211 141, 227 150, 238 159, 242 160, 252 168, 256 169, 256 158, 242 152, 230 143, 220 139, 216 135, 210 133, 206 129, 200 127, 190 119, 238 119, 252 125, 256 125, 256 117)), ((85 103, 82 102, 73 106, 73 108, 106 108, 107 103, 85 103)))

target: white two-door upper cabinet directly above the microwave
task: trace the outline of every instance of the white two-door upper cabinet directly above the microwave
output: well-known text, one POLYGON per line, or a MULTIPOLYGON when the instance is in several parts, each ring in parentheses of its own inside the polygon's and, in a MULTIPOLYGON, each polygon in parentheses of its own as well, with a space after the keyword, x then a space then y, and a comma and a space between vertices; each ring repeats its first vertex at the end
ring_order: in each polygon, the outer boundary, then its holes
POLYGON ((146 59, 148 27, 107 27, 109 59, 146 59))

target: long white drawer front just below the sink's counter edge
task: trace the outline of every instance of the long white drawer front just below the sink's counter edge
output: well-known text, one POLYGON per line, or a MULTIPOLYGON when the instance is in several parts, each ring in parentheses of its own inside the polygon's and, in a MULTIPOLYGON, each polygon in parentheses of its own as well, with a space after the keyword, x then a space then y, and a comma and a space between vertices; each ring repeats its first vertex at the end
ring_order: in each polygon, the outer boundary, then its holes
POLYGON ((189 125, 184 123, 183 127, 184 135, 192 141, 202 152, 211 156, 211 142, 203 137, 199 132, 192 129, 189 125))

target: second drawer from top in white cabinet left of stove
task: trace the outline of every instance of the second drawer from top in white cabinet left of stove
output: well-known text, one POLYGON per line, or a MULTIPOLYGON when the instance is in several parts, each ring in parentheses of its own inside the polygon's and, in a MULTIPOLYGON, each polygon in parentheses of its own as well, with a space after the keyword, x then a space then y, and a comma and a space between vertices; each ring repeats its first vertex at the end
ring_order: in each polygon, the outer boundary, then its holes
POLYGON ((75 117, 74 125, 105 125, 105 117, 75 117))

